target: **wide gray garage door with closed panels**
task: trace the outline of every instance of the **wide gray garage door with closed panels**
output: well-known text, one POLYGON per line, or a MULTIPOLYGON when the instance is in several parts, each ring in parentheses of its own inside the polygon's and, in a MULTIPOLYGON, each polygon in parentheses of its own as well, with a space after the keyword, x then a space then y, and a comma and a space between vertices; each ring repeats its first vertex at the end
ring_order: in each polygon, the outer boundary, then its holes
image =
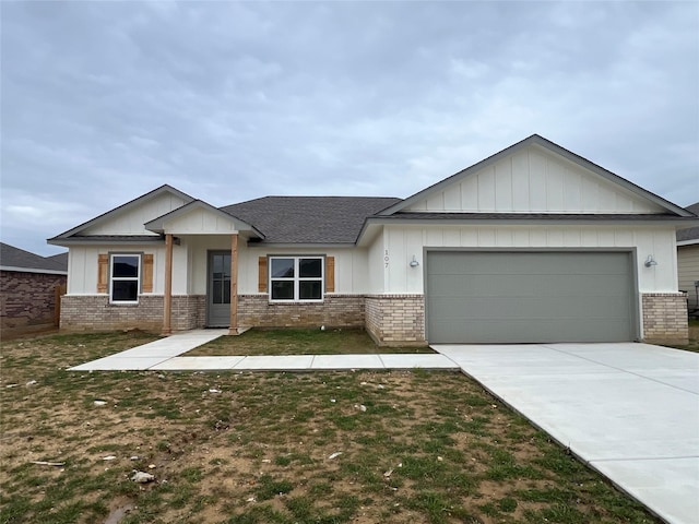
POLYGON ((630 253, 433 251, 426 272, 431 344, 635 338, 630 253))

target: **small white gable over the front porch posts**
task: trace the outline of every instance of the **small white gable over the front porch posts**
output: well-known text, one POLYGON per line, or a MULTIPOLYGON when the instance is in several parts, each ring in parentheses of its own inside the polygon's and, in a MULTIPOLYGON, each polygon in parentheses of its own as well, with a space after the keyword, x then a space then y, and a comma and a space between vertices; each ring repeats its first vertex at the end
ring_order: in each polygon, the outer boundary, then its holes
POLYGON ((217 235, 248 231, 262 237, 250 224, 201 200, 194 200, 146 223, 145 228, 156 234, 217 235))

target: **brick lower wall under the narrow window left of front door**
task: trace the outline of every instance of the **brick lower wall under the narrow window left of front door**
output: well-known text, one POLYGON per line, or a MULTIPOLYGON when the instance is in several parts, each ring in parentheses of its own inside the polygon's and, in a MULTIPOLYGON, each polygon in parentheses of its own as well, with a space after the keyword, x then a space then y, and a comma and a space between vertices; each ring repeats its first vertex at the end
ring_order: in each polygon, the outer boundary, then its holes
MULTIPOLYGON (((173 331, 203 327, 206 297, 173 297, 173 331)), ((112 331, 163 329, 163 296, 142 295, 138 305, 112 305, 106 295, 71 296, 61 300, 61 331, 112 331)))

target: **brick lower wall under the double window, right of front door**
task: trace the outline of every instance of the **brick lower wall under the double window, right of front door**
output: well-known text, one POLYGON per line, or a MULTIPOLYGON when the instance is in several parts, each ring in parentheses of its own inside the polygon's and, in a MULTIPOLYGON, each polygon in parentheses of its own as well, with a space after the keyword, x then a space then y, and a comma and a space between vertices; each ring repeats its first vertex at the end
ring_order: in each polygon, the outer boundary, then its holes
POLYGON ((268 295, 238 296, 240 327, 364 327, 363 295, 325 295, 322 302, 273 303, 268 295))

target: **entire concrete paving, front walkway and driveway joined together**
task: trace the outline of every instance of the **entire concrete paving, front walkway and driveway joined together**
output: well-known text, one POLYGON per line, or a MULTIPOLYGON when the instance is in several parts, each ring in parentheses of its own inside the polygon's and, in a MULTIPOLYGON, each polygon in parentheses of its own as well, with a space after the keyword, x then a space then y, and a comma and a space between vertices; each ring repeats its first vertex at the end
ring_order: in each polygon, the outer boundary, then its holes
POLYGON ((647 344, 443 345, 438 354, 180 357, 199 330, 71 371, 445 369, 494 395, 673 524, 699 523, 699 354, 647 344))

